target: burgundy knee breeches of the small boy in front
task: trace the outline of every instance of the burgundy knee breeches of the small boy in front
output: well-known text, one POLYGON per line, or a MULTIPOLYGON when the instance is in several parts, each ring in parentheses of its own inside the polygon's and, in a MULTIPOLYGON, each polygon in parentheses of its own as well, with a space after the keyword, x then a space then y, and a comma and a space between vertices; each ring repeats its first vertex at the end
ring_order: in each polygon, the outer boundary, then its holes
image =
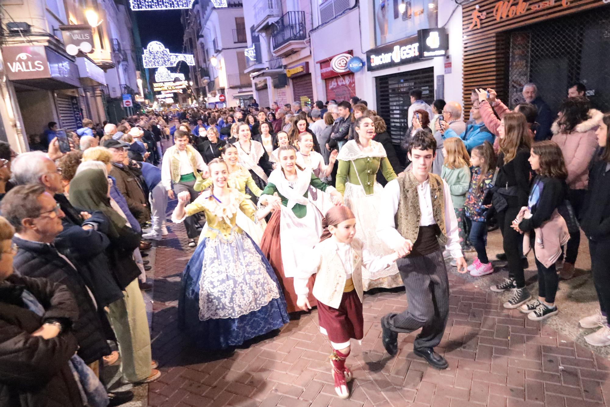
POLYGON ((362 301, 356 290, 343 293, 339 308, 332 308, 318 301, 318 318, 320 328, 326 329, 331 342, 344 343, 350 339, 361 340, 364 337, 362 301))

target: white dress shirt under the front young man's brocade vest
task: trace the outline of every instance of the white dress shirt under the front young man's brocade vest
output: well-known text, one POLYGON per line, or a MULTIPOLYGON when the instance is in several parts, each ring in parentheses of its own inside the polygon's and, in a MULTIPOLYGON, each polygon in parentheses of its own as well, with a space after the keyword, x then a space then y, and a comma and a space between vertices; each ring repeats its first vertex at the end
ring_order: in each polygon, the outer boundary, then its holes
MULTIPOLYGON (((398 230, 394 221, 396 212, 398 211, 398 202, 400 201, 400 185, 398 179, 394 179, 387 183, 383 191, 384 197, 381 200, 381 208, 379 208, 379 218, 377 223, 377 235, 390 248, 402 246, 406 240, 398 230)), ((419 226, 430 226, 436 224, 434 213, 432 213, 432 198, 430 197, 430 182, 426 180, 424 183, 417 185, 417 194, 420 204, 420 224, 419 226)), ((445 228, 447 229, 447 250, 451 253, 454 259, 462 257, 462 246, 459 243, 458 233, 458 218, 453 210, 453 202, 451 202, 451 193, 449 186, 443 180, 443 196, 445 198, 445 228)), ((415 242, 412 242, 415 243, 415 242)))

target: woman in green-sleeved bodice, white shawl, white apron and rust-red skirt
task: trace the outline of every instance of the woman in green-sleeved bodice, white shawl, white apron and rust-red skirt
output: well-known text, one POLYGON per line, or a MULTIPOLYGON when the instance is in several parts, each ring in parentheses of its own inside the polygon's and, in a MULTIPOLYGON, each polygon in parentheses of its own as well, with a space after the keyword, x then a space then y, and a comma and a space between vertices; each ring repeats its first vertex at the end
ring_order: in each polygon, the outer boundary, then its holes
MULTIPOLYGON (((273 205, 276 209, 260 241, 260 249, 278 276, 288 312, 295 312, 298 309, 292 278, 297 265, 306 259, 307 249, 314 247, 323 230, 322 215, 308 197, 309 186, 329 192, 336 203, 342 203, 343 197, 332 186, 321 182, 310 168, 303 169, 296 164, 296 150, 292 145, 279 147, 279 163, 281 168, 271 173, 259 198, 259 205, 273 205), (281 204, 274 194, 281 198, 281 204)), ((315 305, 312 296, 309 303, 315 305)))

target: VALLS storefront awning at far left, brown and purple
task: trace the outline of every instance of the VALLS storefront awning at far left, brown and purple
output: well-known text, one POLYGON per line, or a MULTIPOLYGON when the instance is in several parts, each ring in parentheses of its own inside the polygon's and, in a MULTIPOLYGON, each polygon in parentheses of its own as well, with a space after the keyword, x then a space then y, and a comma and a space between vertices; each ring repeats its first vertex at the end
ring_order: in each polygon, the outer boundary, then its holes
POLYGON ((49 90, 81 87, 77 65, 49 46, 3 46, 2 57, 10 81, 49 90))

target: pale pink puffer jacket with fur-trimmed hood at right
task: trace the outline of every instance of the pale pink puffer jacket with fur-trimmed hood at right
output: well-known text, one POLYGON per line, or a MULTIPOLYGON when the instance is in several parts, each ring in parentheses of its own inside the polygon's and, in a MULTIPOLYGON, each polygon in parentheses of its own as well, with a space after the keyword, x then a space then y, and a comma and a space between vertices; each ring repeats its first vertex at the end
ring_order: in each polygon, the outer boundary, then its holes
POLYGON ((558 120, 551 127, 551 141, 556 142, 564 154, 565 166, 568 169, 565 182, 570 189, 587 189, 589 185, 589 164, 597 149, 595 130, 602 117, 602 112, 590 109, 589 119, 576 125, 571 133, 562 131, 558 120))

